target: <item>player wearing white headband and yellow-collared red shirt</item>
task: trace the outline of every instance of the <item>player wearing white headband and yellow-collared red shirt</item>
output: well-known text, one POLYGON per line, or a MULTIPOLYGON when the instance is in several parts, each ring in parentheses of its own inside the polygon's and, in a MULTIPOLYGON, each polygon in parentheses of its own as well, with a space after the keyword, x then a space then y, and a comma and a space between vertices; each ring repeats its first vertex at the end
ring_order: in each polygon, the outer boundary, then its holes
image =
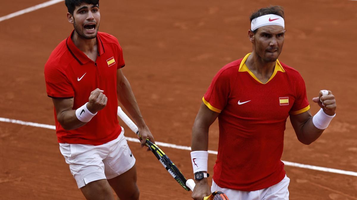
POLYGON ((215 75, 192 128, 196 200, 217 190, 230 200, 289 199, 290 179, 281 162, 287 117, 303 144, 317 140, 335 117, 332 92, 321 90, 312 99, 321 107, 312 116, 300 73, 278 60, 285 36, 282 7, 259 9, 250 21, 252 53, 215 75), (208 129, 217 117, 218 155, 210 188, 208 129))

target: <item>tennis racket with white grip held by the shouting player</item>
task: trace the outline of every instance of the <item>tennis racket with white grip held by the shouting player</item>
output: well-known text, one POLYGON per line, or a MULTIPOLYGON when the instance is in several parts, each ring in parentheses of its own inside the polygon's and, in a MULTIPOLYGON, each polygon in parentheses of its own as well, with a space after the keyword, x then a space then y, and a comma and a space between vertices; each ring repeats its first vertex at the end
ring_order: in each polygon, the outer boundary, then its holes
MULTIPOLYGON (((139 129, 135 125, 133 121, 123 112, 120 106, 118 106, 118 116, 120 117, 121 120, 126 123, 126 125, 134 132, 136 133, 137 136, 140 136, 139 134, 139 129)), ((160 161, 160 163, 165 167, 167 172, 171 174, 172 177, 177 181, 178 184, 182 186, 183 189, 190 191, 190 188, 186 186, 186 178, 183 176, 183 174, 178 170, 176 165, 170 160, 169 157, 166 156, 166 154, 154 143, 150 142, 149 139, 146 139, 146 146, 149 147, 152 153, 156 156, 156 158, 160 161)))

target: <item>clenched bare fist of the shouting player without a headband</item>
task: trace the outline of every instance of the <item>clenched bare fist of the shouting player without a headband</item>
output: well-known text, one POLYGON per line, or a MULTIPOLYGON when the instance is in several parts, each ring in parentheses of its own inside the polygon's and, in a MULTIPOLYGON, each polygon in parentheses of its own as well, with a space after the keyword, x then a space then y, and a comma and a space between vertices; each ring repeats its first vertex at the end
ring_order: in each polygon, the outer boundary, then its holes
POLYGON ((107 105, 108 98, 103 93, 104 90, 99 88, 93 90, 90 93, 87 109, 91 113, 95 114, 96 112, 104 109, 104 107, 107 105))

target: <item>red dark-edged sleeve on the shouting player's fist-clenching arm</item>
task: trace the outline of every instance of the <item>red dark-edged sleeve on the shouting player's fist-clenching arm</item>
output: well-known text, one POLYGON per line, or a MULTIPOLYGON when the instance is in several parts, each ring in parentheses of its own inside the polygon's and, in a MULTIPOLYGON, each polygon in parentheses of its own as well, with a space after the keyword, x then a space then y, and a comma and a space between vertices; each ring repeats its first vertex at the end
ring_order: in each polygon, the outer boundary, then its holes
POLYGON ((47 96, 55 99, 74 98, 74 90, 65 72, 54 66, 45 66, 47 96))

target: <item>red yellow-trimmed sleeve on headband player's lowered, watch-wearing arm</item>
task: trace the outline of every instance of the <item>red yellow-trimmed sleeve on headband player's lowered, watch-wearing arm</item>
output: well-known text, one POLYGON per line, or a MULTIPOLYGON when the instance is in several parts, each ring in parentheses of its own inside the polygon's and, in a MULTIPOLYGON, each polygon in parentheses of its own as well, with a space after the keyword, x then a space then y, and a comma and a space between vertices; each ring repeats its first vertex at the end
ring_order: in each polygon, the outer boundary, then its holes
POLYGON ((212 111, 220 113, 227 105, 230 94, 230 74, 226 69, 221 69, 211 82, 206 94, 203 96, 203 103, 212 111))

